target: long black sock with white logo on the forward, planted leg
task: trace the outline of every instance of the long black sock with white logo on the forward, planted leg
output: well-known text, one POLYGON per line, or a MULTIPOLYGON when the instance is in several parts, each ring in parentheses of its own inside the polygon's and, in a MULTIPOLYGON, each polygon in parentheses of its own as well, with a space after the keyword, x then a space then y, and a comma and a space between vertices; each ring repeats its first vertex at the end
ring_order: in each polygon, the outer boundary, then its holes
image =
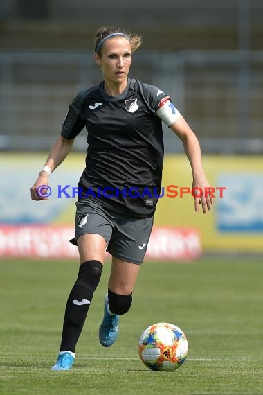
POLYGON ((87 261, 80 265, 78 279, 66 302, 60 351, 75 352, 93 292, 100 282, 102 267, 99 261, 87 261))

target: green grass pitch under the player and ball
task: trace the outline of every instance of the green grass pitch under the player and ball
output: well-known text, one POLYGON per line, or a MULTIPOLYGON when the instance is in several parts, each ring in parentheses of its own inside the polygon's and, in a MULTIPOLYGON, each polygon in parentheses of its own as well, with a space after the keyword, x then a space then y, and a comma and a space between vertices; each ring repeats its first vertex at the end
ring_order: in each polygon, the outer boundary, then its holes
POLYGON ((145 262, 134 302, 120 319, 116 344, 98 341, 110 263, 93 298, 72 371, 52 372, 64 306, 78 270, 71 261, 2 260, 0 394, 261 395, 262 278, 260 258, 145 262), (149 371, 138 338, 156 322, 188 337, 178 370, 149 371))

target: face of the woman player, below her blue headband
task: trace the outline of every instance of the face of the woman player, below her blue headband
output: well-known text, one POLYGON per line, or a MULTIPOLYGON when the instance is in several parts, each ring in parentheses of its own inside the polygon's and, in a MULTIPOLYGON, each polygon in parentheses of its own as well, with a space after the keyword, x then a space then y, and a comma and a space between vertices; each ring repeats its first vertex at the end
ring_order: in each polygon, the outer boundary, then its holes
POLYGON ((131 44, 125 37, 112 37, 102 45, 101 55, 95 54, 106 82, 121 85, 127 82, 131 66, 131 44))

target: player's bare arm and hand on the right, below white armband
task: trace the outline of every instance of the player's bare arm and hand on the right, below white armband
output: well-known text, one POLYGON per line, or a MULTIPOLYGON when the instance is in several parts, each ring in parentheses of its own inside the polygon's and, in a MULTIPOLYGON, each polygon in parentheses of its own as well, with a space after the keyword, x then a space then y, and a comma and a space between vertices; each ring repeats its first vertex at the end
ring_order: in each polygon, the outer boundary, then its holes
MULTIPOLYGON (((194 198, 194 209, 195 211, 199 211, 199 204, 202 204, 203 213, 205 214, 210 210, 214 203, 214 199, 212 198, 212 195, 208 193, 208 188, 211 188, 211 186, 206 179, 206 175, 201 164, 201 148, 199 141, 183 116, 180 116, 179 119, 172 123, 170 128, 183 142, 185 153, 190 161, 193 179, 192 188, 201 188, 203 191, 200 198, 194 198)), ((200 195, 198 189, 197 195, 200 195)))

